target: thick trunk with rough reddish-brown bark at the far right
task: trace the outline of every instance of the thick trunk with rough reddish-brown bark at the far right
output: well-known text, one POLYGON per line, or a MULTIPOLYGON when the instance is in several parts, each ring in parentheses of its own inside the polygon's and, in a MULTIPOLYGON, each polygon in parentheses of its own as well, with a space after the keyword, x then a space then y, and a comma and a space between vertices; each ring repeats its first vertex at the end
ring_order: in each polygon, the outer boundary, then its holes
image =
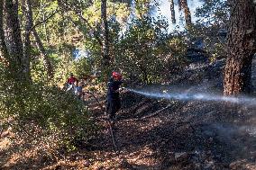
POLYGON ((230 4, 224 94, 250 93, 251 60, 256 52, 256 4, 253 0, 232 0, 230 4))

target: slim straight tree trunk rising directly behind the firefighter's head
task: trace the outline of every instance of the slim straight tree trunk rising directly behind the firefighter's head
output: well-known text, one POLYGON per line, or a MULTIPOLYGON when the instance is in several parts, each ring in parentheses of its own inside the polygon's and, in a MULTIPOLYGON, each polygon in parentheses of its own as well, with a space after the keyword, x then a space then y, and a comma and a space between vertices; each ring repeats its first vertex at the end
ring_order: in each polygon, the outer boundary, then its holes
POLYGON ((106 19, 106 0, 101 0, 101 19, 102 19, 102 31, 103 31, 103 65, 107 69, 110 66, 109 57, 109 31, 106 19))

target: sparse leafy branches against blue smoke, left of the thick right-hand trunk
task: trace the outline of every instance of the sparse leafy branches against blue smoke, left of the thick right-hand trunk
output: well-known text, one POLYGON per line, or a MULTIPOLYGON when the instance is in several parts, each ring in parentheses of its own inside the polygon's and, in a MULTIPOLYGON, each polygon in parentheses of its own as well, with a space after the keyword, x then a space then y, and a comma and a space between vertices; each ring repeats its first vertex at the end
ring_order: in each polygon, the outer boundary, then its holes
POLYGON ((196 13, 201 19, 187 28, 187 47, 197 49, 194 43, 201 41, 204 55, 210 61, 224 58, 229 10, 226 0, 204 1, 204 5, 197 8, 196 13))

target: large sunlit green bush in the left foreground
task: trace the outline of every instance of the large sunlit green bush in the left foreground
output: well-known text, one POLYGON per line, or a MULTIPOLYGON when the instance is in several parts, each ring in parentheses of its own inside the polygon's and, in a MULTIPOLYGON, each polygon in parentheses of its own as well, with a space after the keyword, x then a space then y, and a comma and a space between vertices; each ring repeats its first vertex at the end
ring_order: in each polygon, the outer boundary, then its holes
POLYGON ((75 148, 96 133, 86 105, 75 95, 54 86, 2 82, 0 119, 27 143, 50 148, 75 148))

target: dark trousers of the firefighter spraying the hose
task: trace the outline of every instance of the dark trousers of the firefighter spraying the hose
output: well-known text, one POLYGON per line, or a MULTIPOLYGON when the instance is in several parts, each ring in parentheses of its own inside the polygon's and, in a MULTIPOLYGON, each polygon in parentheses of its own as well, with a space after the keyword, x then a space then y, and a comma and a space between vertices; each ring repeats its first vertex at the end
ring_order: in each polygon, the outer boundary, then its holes
POLYGON ((121 100, 120 98, 108 98, 106 105, 106 112, 109 115, 109 119, 114 119, 115 113, 119 111, 121 108, 121 100))

